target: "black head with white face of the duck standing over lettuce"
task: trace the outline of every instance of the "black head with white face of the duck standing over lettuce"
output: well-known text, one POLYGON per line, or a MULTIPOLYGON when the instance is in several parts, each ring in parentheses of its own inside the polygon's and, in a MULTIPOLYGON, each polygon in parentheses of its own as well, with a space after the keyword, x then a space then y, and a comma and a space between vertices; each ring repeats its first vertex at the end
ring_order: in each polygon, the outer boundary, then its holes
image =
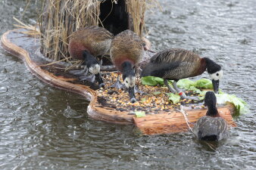
POLYGON ((206 60, 206 68, 211 78, 212 84, 214 86, 214 92, 218 93, 220 79, 223 76, 223 70, 221 70, 221 66, 215 63, 213 60, 209 58, 205 58, 206 60))

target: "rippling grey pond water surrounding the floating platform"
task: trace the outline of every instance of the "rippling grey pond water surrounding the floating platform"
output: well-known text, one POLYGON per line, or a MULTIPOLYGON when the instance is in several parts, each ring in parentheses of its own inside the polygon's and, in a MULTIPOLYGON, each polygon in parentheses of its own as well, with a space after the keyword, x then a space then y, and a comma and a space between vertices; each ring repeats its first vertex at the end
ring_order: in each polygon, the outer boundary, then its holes
MULTIPOLYGON (((13 16, 36 20, 35 5, 21 17, 25 2, 0 0, 1 35, 14 28, 13 16)), ((89 101, 45 85, 0 48, 0 169, 256 168, 255 1, 160 2, 163 10, 146 17, 153 50, 186 48, 213 58, 224 70, 220 88, 250 105, 234 118, 230 138, 212 150, 189 132, 140 136, 133 126, 90 119, 89 101)))

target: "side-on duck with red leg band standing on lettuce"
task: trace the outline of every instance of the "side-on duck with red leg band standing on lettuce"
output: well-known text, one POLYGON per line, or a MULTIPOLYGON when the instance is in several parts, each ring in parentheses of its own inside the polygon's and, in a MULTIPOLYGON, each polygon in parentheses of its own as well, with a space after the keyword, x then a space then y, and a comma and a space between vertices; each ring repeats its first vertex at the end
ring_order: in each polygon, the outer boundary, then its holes
POLYGON ((221 66, 208 57, 201 58, 198 54, 182 48, 167 49, 155 54, 142 68, 141 76, 161 77, 172 93, 180 94, 183 99, 198 100, 195 97, 187 97, 176 83, 180 79, 201 75, 205 70, 208 71, 214 91, 217 93, 223 76, 221 66), (174 80, 173 88, 168 84, 168 80, 174 80))

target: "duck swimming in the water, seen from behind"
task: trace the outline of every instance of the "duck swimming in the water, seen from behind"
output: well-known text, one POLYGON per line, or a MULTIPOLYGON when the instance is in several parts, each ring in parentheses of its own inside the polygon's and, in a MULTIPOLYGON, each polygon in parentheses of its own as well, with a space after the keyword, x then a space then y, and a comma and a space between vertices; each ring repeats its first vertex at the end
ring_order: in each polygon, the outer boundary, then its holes
POLYGON ((228 125, 216 107, 216 96, 213 91, 208 91, 204 97, 204 106, 208 107, 206 116, 202 116, 195 123, 192 131, 198 140, 220 141, 228 138, 228 125))

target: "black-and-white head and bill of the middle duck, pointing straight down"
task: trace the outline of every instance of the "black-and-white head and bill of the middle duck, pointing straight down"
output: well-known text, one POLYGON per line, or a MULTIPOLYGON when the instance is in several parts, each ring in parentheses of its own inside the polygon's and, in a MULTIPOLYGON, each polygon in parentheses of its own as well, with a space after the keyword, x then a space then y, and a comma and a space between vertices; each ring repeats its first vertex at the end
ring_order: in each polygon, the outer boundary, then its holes
POLYGON ((123 82, 126 88, 128 88, 130 101, 134 103, 136 102, 135 92, 134 92, 135 81, 136 81, 135 71, 132 64, 127 61, 122 64, 122 67, 123 67, 123 82))

